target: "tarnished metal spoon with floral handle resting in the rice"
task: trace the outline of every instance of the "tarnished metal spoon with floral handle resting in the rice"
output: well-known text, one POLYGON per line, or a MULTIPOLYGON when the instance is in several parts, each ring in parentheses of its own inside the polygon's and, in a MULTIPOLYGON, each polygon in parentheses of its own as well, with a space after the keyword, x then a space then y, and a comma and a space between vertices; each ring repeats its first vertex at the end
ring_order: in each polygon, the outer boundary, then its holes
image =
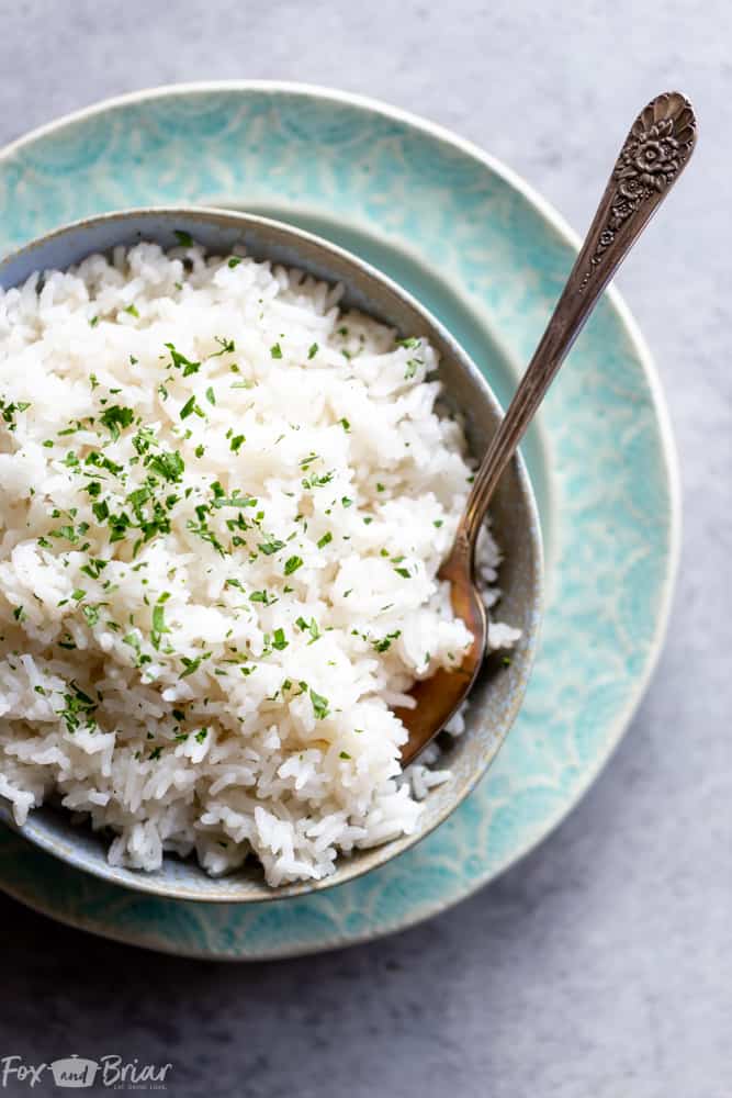
POLYGON ((473 643, 459 669, 441 668, 417 683, 414 708, 396 710, 409 732, 403 765, 441 731, 483 663, 488 621, 475 583, 475 544, 496 484, 603 290, 686 167, 696 138, 691 104, 677 91, 652 100, 626 138, 547 330, 475 474, 450 556, 440 569, 438 578, 452 585, 452 608, 472 632, 473 643))

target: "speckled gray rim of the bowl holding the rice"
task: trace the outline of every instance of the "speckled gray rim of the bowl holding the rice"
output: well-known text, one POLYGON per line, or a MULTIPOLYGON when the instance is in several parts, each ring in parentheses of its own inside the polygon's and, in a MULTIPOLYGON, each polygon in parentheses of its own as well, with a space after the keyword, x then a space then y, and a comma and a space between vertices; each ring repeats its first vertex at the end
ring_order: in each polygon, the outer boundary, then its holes
MULTIPOLYGON (((345 248, 331 244, 329 240, 325 240, 313 233, 307 233, 272 217, 263 217, 258 214, 247 214, 226 209, 217 209, 214 206, 166 205, 140 206, 129 210, 111 211, 93 217, 82 217, 78 221, 69 222, 68 224, 55 228, 43 236, 36 237, 22 247, 16 248, 14 251, 9 253, 7 256, 1 257, 0 274, 2 274, 7 267, 22 259, 26 256, 26 254, 34 251, 40 246, 53 244, 55 239, 67 237, 75 231, 83 233, 85 229, 91 229, 95 226, 122 226, 126 221, 134 221, 136 217, 140 216, 153 217, 156 221, 159 219, 161 223, 169 222, 171 226, 180 225, 184 219, 193 219, 202 222, 210 222, 212 224, 217 224, 223 220, 234 229, 239 226, 243 232, 246 231, 247 226, 252 226, 254 228, 261 227, 264 232, 269 231, 274 234, 281 233, 284 236, 293 237, 299 242, 299 244, 304 245, 305 249, 307 249, 307 247, 312 247, 320 254, 333 257, 336 261, 340 260, 357 268, 359 272, 359 289, 361 287, 365 287, 368 291, 370 285, 385 288, 397 299, 404 302, 408 309, 417 313, 426 327, 429 327, 439 335, 439 338, 448 346, 449 354, 453 361, 459 363, 461 372, 471 378, 473 384, 482 393, 485 404, 492 410, 494 416, 496 416, 497 419, 500 418, 503 414, 500 404, 493 393, 485 376, 478 370, 470 356, 461 347, 458 340, 454 339, 450 332, 448 332, 444 325, 442 325, 427 309, 425 309, 425 306, 421 305, 416 298, 398 285, 398 283, 396 283, 393 279, 376 270, 371 264, 365 262, 352 253, 347 251, 345 248)), ((171 229, 171 232, 173 232, 173 229, 171 229)), ((121 233, 120 235, 123 236, 124 234, 121 233)), ((82 249, 81 254, 90 253, 82 249)), ((541 525, 539 522, 539 513, 531 481, 520 455, 516 456, 513 464, 517 474, 518 501, 520 501, 520 506, 526 509, 527 522, 525 530, 532 559, 534 582, 530 594, 527 596, 526 603, 527 618, 531 623, 531 627, 528 630, 526 643, 522 638, 517 648, 517 654, 520 654, 520 662, 515 659, 514 663, 516 666, 511 666, 510 692, 506 706, 502 710, 498 729, 492 731, 489 744, 487 748, 484 748, 482 752, 480 752, 480 764, 473 768, 470 775, 466 778, 463 778, 460 783, 458 781, 453 781, 448 783, 447 786, 441 787, 442 795, 444 796, 446 791, 449 795, 446 797, 444 803, 441 805, 439 810, 432 814, 426 826, 420 827, 412 834, 404 834, 381 845, 359 851, 358 858, 344 855, 339 856, 336 862, 336 872, 330 876, 323 877, 319 881, 303 881, 295 884, 281 885, 277 888, 260 886, 256 893, 248 895, 237 892, 238 878, 236 874, 232 874, 228 877, 207 878, 204 871, 200 870, 201 890, 198 890, 187 886, 184 882, 178 881, 174 877, 168 878, 161 876, 156 872, 146 873, 144 871, 129 870, 124 866, 111 865, 103 856, 90 860, 83 849, 79 848, 78 844, 75 844, 71 839, 64 839, 63 837, 54 833, 53 817, 52 824, 48 825, 48 817, 45 810, 32 809, 27 821, 19 827, 14 822, 12 811, 8 803, 4 802, 4 799, 0 799, 0 821, 4 822, 12 830, 21 834, 34 845, 38 847, 41 850, 46 851, 46 853, 58 858, 60 861, 74 866, 75 869, 99 877, 102 881, 121 885, 133 892, 158 896, 165 899, 184 899, 202 904, 266 904, 271 903, 272 900, 308 896, 314 893, 322 893, 326 889, 336 888, 350 881, 356 881, 365 873, 371 873, 372 871, 379 869, 379 866, 384 865, 386 862, 406 853, 417 843, 421 842, 429 834, 431 834, 432 831, 435 831, 435 829, 441 824, 443 824, 444 820, 452 815, 452 813, 463 803, 463 800, 475 788, 477 783, 483 778, 498 754, 506 736, 509 733, 510 728, 518 716, 536 659, 539 647, 540 624, 543 607, 543 549, 541 525), (210 892, 205 890, 207 881, 212 882, 210 892), (226 890, 227 885, 229 885, 232 889, 230 892, 226 890)), ((471 731, 468 730, 465 732, 465 739, 470 736, 471 731)), ((54 813, 54 815, 56 815, 56 813, 54 813)), ((87 827, 87 825, 82 826, 87 827)), ((166 859, 171 856, 173 855, 166 854, 166 859)), ((187 860, 187 862, 190 862, 190 860, 187 860)))

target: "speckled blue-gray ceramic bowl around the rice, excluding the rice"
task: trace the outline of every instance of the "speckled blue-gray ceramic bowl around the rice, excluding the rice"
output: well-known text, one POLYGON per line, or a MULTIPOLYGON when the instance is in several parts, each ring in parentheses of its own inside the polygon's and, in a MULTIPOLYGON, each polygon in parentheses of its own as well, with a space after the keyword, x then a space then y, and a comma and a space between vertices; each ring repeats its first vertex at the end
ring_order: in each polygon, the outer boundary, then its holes
MULTIPOLYGON (((319 237, 269 219, 201 209, 146 209, 111 213, 53 232, 0 264, 0 285, 8 289, 36 270, 64 269, 92 253, 114 245, 154 240, 178 244, 176 231, 189 233, 214 254, 244 245, 257 259, 297 267, 346 287, 344 304, 362 310, 401 334, 423 336, 440 357, 444 401, 464 418, 471 452, 480 458, 496 430, 502 410, 487 382, 460 345, 417 301, 368 264, 319 237)), ((270 888, 252 863, 222 878, 210 877, 193 860, 167 855, 155 873, 112 866, 106 861, 109 837, 86 825, 72 825, 70 814, 45 805, 34 810, 20 832, 57 858, 99 877, 143 893, 169 898, 252 903, 304 895, 350 881, 413 847, 468 796, 485 774, 520 708, 537 650, 542 605, 542 550, 536 502, 523 463, 516 458, 504 474, 491 508, 493 530, 505 554, 500 569, 502 619, 522 630, 509 666, 486 659, 473 687, 463 736, 448 742, 441 765, 453 777, 431 791, 415 834, 360 851, 337 862, 336 872, 319 882, 270 888)), ((13 826, 8 806, 0 818, 13 826)))

